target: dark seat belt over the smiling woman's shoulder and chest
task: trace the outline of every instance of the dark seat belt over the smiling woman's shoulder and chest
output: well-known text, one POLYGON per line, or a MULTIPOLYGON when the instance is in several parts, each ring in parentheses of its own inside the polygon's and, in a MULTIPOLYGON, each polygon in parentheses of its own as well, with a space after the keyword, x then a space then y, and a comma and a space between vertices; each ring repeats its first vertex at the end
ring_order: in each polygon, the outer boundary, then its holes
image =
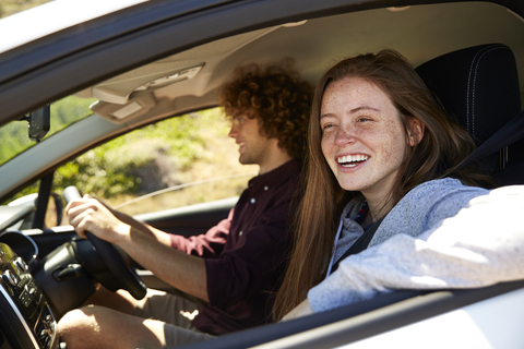
MULTIPOLYGON (((486 142, 480 144, 478 148, 472 152, 468 157, 458 165, 457 169, 464 168, 476 161, 479 161, 491 154, 500 151, 501 148, 513 144, 514 142, 524 137, 524 110, 517 113, 513 119, 505 123, 499 131, 493 133, 486 142)), ((332 272, 338 268, 341 261, 352 254, 356 254, 366 250, 371 242, 377 229, 385 217, 380 218, 366 232, 358 238, 358 240, 342 255, 342 257, 333 264, 332 272)))

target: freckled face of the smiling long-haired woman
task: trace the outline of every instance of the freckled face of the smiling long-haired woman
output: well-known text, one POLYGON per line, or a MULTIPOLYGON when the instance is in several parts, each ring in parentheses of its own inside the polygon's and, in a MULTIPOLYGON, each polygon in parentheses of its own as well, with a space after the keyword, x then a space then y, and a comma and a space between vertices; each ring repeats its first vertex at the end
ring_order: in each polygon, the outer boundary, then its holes
POLYGON ((364 79, 345 77, 325 88, 320 116, 322 153, 338 184, 384 198, 408 146, 390 97, 364 79))

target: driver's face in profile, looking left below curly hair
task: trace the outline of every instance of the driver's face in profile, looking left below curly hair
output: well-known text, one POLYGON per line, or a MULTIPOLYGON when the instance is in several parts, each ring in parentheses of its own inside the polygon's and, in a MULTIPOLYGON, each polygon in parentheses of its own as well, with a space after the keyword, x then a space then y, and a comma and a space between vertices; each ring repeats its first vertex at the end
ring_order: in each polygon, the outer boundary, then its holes
POLYGON ((266 157, 270 154, 267 151, 272 142, 260 134, 257 118, 249 119, 246 115, 233 117, 229 136, 240 146, 238 149, 240 164, 257 164, 262 167, 267 161, 266 157))

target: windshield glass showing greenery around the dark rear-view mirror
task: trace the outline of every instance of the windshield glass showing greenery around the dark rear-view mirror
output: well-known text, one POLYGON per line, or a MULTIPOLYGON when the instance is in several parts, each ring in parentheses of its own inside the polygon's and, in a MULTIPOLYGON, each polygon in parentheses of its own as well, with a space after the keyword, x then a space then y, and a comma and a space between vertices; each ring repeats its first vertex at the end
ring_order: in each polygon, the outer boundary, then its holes
MULTIPOLYGON (((96 99, 84 99, 69 96, 51 104, 51 127, 44 141, 73 122, 92 115, 90 105, 96 99)), ((0 139, 9 140, 0 145, 0 165, 5 164, 19 154, 36 145, 31 141, 27 131, 27 121, 15 120, 0 128, 0 139)))

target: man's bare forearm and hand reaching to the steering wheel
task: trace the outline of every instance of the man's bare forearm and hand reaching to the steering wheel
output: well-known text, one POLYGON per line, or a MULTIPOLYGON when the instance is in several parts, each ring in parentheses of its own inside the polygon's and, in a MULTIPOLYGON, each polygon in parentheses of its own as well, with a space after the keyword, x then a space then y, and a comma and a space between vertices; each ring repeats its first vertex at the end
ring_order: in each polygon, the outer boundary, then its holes
POLYGON ((169 246, 170 242, 166 245, 158 241, 151 230, 145 232, 118 219, 96 200, 75 200, 66 212, 79 236, 85 238, 85 231, 91 231, 99 239, 118 244, 160 279, 209 301, 204 260, 174 250, 169 246))

